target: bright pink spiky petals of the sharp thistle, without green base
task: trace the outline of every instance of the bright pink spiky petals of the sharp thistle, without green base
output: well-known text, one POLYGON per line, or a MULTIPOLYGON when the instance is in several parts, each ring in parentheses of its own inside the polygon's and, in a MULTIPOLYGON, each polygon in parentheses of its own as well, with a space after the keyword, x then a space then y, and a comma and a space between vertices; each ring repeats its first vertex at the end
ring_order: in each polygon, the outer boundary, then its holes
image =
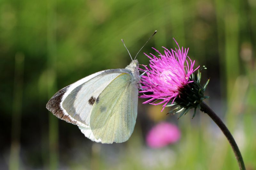
MULTIPOLYGON (((155 48, 153 49, 156 50, 155 48)), ((140 69, 142 71, 148 71, 147 75, 142 76, 140 79, 143 89, 140 91, 143 93, 140 97, 150 98, 143 102, 143 104, 159 105, 164 103, 163 111, 169 101, 173 103, 180 96, 184 86, 193 82, 189 77, 199 66, 195 70, 193 69, 195 61, 192 61, 188 57, 188 49, 183 49, 183 47, 181 49, 180 47, 178 49, 175 48, 175 50, 164 48, 164 54, 161 54, 158 50, 156 52, 160 58, 150 53, 152 58, 144 53, 150 59, 150 68, 145 66, 145 70, 140 69), (152 94, 148 94, 147 92, 151 92, 152 94), (159 99, 163 101, 155 103, 159 99)))

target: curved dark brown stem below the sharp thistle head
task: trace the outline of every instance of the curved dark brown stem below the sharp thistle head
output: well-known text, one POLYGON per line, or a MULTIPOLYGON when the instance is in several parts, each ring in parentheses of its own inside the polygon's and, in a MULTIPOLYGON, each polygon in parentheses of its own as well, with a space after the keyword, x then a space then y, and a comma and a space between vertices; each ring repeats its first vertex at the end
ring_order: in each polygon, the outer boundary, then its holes
POLYGON ((214 113, 214 111, 204 102, 201 102, 200 104, 201 111, 209 115, 212 120, 219 126, 221 131, 224 133, 224 135, 227 137, 229 144, 231 145, 235 155, 237 162, 239 164, 240 170, 245 170, 244 166, 244 160, 242 158, 241 152, 239 151, 239 148, 236 144, 235 139, 231 135, 230 131, 228 130, 227 126, 221 121, 220 117, 214 113))

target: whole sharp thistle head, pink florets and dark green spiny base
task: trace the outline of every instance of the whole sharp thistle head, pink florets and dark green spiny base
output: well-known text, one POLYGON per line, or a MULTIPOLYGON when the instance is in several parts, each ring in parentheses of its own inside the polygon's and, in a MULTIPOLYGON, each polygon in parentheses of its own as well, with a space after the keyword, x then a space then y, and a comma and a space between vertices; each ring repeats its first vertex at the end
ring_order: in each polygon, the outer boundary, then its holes
MULTIPOLYGON (((177 42, 176 44, 178 45, 177 42)), ((180 117, 190 108, 195 108, 194 117, 196 108, 200 108, 201 101, 209 98, 204 96, 209 80, 203 86, 200 85, 200 66, 193 69, 195 60, 192 61, 188 57, 188 49, 183 49, 183 47, 180 49, 178 45, 178 49, 175 48, 175 50, 164 48, 164 54, 153 49, 160 58, 151 53, 152 57, 144 53, 150 59, 150 68, 144 66, 145 69, 140 69, 147 73, 140 78, 142 88, 140 97, 149 98, 143 104, 163 104, 162 111, 165 107, 176 107, 168 113, 181 113, 180 117), (196 70, 197 77, 194 75, 196 70), (162 101, 156 103, 158 100, 162 101)))

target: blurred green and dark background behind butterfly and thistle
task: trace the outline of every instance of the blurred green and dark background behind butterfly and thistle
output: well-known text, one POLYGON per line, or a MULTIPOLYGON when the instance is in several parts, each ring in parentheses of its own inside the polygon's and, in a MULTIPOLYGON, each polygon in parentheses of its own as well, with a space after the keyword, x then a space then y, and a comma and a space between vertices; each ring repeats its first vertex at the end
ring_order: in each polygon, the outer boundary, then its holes
POLYGON ((142 105, 130 139, 93 143, 45 105, 62 87, 94 72, 124 68, 149 36, 151 47, 189 47, 211 78, 206 102, 226 123, 244 157, 256 169, 255 0, 1 0, 0 169, 238 169, 228 141, 200 111, 166 115, 142 105), (172 122, 180 140, 147 146, 148 130, 172 122))

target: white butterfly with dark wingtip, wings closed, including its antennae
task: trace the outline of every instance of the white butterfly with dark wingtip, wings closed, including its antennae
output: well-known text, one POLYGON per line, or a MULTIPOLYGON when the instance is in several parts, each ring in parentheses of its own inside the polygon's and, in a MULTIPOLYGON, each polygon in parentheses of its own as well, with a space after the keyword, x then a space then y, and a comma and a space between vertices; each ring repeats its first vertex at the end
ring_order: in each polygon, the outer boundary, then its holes
POLYGON ((124 69, 103 70, 62 88, 46 108, 58 118, 77 125, 92 141, 107 144, 127 141, 138 108, 140 74, 135 58, 124 69))

